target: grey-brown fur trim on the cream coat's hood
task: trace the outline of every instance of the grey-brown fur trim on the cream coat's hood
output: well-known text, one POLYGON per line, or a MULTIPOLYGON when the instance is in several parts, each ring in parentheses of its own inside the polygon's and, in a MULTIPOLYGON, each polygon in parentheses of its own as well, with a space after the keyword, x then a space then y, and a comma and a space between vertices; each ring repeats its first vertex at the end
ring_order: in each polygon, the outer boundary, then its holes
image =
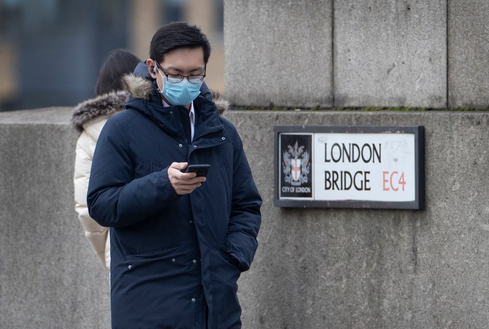
POLYGON ((129 93, 117 91, 97 96, 79 103, 71 113, 71 125, 78 132, 83 131, 83 124, 100 115, 111 115, 125 108, 129 93))

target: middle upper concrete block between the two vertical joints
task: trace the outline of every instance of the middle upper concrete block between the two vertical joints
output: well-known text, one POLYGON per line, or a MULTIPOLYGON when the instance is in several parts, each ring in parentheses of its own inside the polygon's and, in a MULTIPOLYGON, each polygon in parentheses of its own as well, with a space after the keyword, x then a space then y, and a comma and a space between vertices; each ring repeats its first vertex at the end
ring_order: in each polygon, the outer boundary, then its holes
POLYGON ((334 8, 335 106, 446 106, 445 1, 334 8))

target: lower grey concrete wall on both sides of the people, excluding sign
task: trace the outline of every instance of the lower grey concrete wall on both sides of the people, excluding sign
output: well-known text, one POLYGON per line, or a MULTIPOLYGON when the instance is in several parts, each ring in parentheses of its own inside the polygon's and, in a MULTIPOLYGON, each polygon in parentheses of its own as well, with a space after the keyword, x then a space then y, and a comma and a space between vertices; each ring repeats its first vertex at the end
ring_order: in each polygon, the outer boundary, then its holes
MULTIPOLYGON (((0 327, 108 327, 72 201, 71 108, 0 113, 0 327)), ((263 196, 243 328, 489 323, 488 112, 230 111, 263 196), (274 125, 425 127, 426 210, 277 208, 274 125)))

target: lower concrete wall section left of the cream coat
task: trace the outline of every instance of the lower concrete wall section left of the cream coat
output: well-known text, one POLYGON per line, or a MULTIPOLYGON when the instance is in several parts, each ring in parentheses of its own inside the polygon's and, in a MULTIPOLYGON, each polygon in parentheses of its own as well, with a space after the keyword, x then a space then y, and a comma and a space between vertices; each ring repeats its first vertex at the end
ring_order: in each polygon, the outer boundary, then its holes
POLYGON ((74 211, 72 108, 0 113, 0 327, 108 328, 108 273, 74 211))

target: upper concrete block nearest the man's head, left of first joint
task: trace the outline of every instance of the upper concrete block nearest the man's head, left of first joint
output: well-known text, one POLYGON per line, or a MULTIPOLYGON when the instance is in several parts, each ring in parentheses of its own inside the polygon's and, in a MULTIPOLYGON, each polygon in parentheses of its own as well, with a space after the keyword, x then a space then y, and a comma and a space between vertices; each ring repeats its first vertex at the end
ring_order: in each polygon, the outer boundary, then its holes
POLYGON ((237 105, 333 105, 332 0, 224 4, 225 89, 237 105))

